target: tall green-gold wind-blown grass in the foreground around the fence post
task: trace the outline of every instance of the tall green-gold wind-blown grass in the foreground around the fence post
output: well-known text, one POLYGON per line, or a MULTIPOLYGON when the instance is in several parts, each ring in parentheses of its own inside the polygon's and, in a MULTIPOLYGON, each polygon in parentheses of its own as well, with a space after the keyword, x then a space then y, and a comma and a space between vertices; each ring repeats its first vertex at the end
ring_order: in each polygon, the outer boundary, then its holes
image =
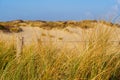
POLYGON ((0 41, 0 80, 119 80, 120 45, 111 43, 111 35, 95 29, 77 49, 40 42, 24 47, 19 59, 13 44, 0 41))

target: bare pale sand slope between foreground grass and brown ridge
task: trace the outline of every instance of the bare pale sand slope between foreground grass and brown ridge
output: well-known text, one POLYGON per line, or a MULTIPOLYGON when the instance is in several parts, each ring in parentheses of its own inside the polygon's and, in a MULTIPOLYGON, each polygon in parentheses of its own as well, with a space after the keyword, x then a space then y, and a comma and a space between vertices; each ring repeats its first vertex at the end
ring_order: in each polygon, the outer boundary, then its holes
MULTIPOLYGON (((106 27, 103 26, 102 27, 106 27)), ((32 44, 37 43, 38 41, 42 41, 44 43, 48 43, 49 41, 52 41, 54 43, 57 43, 58 45, 69 45, 69 46, 75 46, 78 43, 82 43, 81 41, 85 41, 81 38, 81 36, 89 36, 91 32, 94 31, 94 28, 92 29, 81 29, 78 27, 71 28, 66 27, 64 29, 51 29, 46 30, 39 27, 21 27, 23 29, 23 32, 20 33, 3 33, 0 32, 0 39, 4 39, 6 41, 15 41, 16 37, 24 37, 24 44, 32 44)), ((114 28, 114 38, 112 41, 120 41, 120 29, 114 28)))

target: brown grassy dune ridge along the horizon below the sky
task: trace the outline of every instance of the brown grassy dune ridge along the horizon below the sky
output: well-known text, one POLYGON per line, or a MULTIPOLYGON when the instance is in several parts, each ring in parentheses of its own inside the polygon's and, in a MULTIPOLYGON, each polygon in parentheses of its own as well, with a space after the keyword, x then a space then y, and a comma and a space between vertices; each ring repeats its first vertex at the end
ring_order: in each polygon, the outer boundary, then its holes
POLYGON ((58 28, 63 29, 66 27, 80 27, 83 29, 94 28, 98 24, 104 24, 109 27, 120 27, 119 24, 113 24, 111 22, 107 22, 104 20, 83 20, 83 21, 24 21, 24 20, 14 20, 14 21, 7 21, 7 22, 0 22, 0 25, 5 26, 6 28, 12 29, 13 31, 19 32, 19 27, 40 27, 43 29, 52 29, 58 28))

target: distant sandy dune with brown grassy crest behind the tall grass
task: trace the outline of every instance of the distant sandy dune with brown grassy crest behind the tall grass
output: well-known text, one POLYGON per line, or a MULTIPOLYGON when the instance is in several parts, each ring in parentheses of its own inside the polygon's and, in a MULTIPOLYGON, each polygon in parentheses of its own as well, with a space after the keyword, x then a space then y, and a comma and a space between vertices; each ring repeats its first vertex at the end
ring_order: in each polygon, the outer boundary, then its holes
POLYGON ((53 41, 59 45, 66 42, 73 46, 78 42, 86 41, 81 36, 89 34, 98 28, 114 29, 115 36, 112 41, 120 40, 120 25, 106 21, 84 20, 84 21, 23 21, 14 20, 0 22, 0 37, 4 40, 12 40, 17 37, 24 37, 24 44, 37 43, 41 40, 44 43, 53 41), (60 44, 61 43, 61 44, 60 44), (73 44, 74 43, 74 44, 73 44))

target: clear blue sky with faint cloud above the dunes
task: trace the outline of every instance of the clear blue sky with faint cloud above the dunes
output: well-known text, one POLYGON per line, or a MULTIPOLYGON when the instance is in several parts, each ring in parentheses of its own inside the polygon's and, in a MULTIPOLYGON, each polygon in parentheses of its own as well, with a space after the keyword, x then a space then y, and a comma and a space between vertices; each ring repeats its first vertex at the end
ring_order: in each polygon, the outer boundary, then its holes
POLYGON ((0 21, 108 19, 120 0, 0 0, 0 21))

